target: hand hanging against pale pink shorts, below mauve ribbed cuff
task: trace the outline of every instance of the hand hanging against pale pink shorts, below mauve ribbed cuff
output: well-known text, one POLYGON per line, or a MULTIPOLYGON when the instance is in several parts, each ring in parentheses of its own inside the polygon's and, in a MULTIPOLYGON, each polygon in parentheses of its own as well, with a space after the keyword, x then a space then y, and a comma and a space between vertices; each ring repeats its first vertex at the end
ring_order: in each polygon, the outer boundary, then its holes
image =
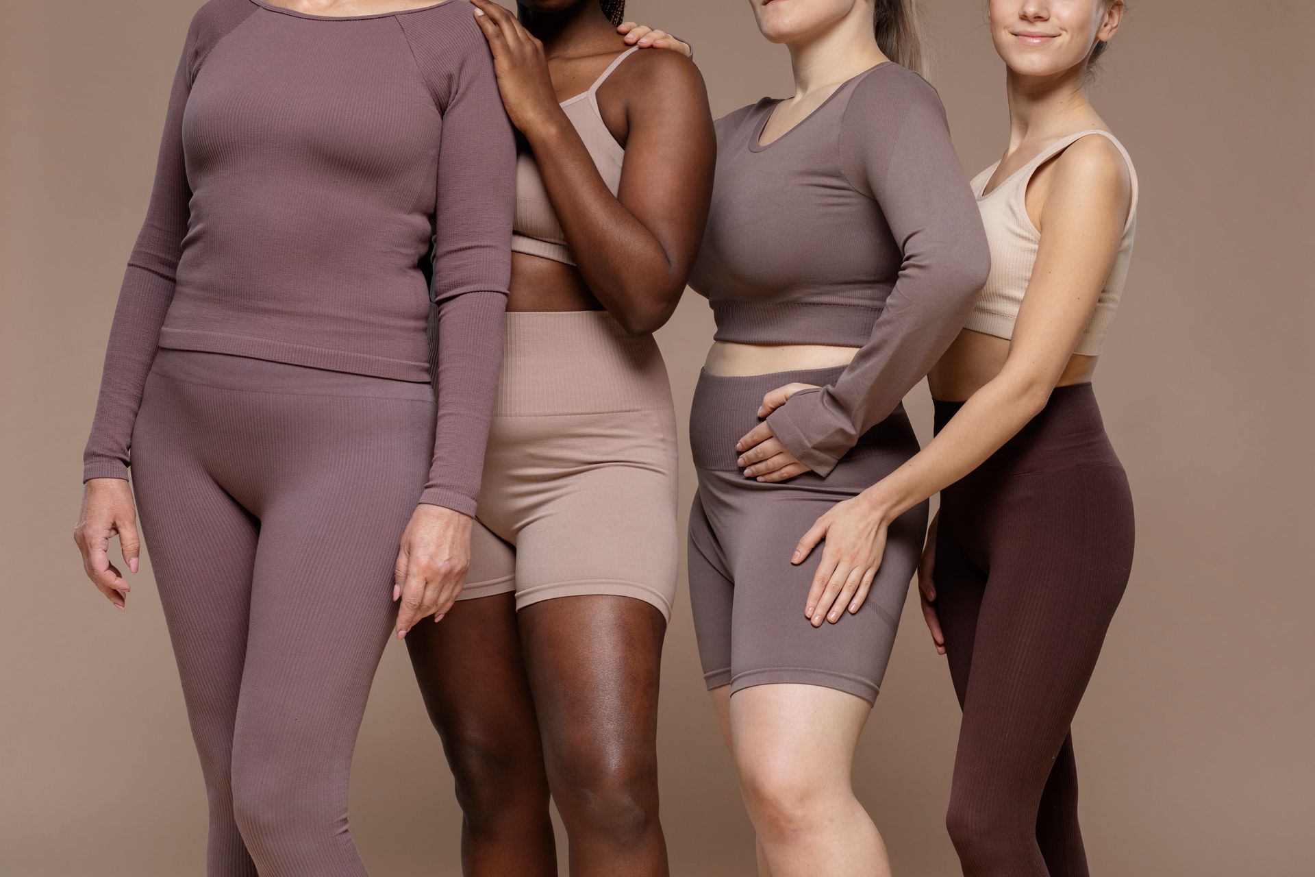
POLYGON ((393 568, 397 639, 423 618, 443 615, 456 602, 471 567, 472 519, 437 505, 418 505, 402 534, 393 568))

